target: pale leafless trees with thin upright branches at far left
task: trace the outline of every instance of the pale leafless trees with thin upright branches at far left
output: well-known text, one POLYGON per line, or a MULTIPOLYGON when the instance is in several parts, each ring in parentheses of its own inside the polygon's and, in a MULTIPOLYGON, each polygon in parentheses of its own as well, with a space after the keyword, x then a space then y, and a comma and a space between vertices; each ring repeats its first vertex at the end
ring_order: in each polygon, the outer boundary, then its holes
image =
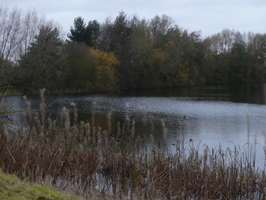
POLYGON ((0 6, 0 85, 10 81, 13 67, 29 50, 45 23, 45 16, 39 16, 34 9, 23 13, 18 7, 0 6))

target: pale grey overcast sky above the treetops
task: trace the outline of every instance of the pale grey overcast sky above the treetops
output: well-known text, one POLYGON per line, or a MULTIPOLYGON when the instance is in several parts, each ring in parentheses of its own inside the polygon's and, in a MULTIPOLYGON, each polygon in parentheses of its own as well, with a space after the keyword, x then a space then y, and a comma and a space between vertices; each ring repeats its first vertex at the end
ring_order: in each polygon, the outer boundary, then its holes
POLYGON ((114 20, 123 9, 128 16, 153 18, 166 14, 175 24, 189 32, 201 30, 206 37, 224 28, 266 33, 266 0, 1 0, 1 5, 35 8, 48 19, 59 22, 68 33, 75 17, 103 22, 108 16, 114 20))

